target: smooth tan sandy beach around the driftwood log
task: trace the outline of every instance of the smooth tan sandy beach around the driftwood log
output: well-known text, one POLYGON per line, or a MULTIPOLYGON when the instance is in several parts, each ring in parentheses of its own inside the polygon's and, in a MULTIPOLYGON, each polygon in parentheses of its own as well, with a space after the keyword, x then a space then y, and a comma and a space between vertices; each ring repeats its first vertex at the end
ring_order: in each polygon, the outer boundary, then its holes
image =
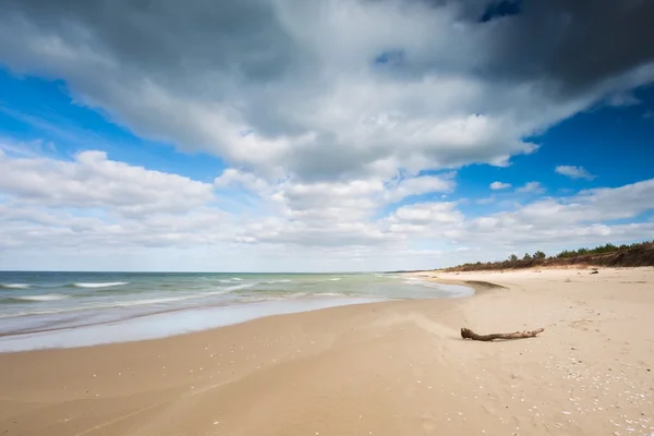
POLYGON ((416 272, 477 293, 3 353, 0 434, 651 435, 654 268, 590 272, 416 272))

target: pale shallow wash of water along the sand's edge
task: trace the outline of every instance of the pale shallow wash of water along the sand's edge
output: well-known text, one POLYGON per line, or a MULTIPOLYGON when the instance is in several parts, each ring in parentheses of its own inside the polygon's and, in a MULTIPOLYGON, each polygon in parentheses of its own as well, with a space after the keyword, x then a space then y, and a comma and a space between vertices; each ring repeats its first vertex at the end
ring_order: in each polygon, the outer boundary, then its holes
MULTIPOLYGON (((405 276, 405 278, 415 279, 413 276, 405 276)), ((417 286, 428 287, 429 280, 419 278, 417 281, 420 282, 417 286)), ((468 290, 474 292, 474 288, 469 286, 439 284, 443 288, 439 290, 451 292, 452 295, 457 295, 457 292, 459 292, 462 296, 425 296, 424 299, 405 300, 463 298, 467 296, 468 290)), ((290 296, 293 295, 290 294, 290 296)), ((90 318, 86 323, 77 320, 72 326, 68 325, 66 320, 50 322, 49 325, 37 326, 36 328, 16 327, 0 332, 0 353, 94 347, 106 343, 169 338, 247 323, 268 316, 391 301, 402 300, 346 294, 337 298, 331 294, 316 293, 282 300, 242 301, 238 303, 230 302, 229 304, 218 302, 193 307, 162 307, 147 313, 124 314, 121 317, 113 315, 109 319, 90 318), (137 331, 137 334, 134 335, 131 331, 137 331)), ((120 311, 120 308, 117 307, 117 311, 120 311)), ((15 319, 20 320, 20 318, 15 319)), ((77 319, 82 319, 82 316, 80 315, 77 319)))

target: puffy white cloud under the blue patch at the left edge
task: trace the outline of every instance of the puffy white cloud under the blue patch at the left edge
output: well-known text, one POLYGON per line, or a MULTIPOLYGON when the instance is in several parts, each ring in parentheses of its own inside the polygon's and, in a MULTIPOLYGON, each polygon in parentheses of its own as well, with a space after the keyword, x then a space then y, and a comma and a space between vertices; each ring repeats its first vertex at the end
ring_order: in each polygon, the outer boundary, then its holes
POLYGON ((11 158, 0 152, 0 192, 39 205, 112 207, 124 215, 186 211, 213 199, 213 187, 181 175, 83 152, 73 161, 11 158))

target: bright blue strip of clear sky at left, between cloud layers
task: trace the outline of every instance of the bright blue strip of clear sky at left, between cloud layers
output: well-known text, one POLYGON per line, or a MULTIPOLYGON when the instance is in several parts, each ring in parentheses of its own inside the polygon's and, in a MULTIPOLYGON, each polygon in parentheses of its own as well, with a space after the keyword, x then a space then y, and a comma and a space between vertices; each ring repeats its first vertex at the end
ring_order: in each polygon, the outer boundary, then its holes
POLYGON ((141 138, 111 121, 101 108, 75 101, 65 82, 0 70, 0 126, 15 142, 52 143, 55 156, 71 159, 85 149, 107 152, 114 160, 211 181, 225 165, 218 156, 178 153, 174 146, 141 138))

